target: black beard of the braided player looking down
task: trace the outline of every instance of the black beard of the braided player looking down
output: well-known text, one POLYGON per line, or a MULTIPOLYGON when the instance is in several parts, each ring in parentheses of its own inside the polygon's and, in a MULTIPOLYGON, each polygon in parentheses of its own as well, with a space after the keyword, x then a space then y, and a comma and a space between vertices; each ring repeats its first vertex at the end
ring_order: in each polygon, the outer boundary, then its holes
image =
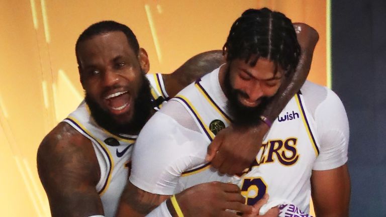
POLYGON ((239 101, 238 96, 241 95, 248 97, 248 95, 245 92, 232 87, 230 80, 230 67, 228 67, 225 72, 224 89, 225 95, 228 98, 227 110, 232 117, 233 123, 243 127, 257 125, 260 122, 260 116, 265 110, 265 107, 271 97, 262 96, 260 98, 260 103, 254 107, 243 105, 239 101))

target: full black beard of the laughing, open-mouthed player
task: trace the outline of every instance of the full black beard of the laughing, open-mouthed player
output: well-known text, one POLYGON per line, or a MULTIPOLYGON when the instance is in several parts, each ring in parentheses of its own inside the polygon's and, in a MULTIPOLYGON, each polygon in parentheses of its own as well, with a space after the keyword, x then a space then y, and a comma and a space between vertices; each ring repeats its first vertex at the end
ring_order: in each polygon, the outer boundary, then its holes
MULTIPOLYGON (((133 117, 124 123, 116 121, 111 113, 105 111, 86 92, 84 99, 90 108, 91 116, 95 122, 113 134, 138 134, 149 119, 152 110, 150 83, 142 71, 141 80, 142 84, 134 100, 134 107, 130 108, 134 109, 133 117)), ((119 117, 117 119, 119 119, 119 117)))

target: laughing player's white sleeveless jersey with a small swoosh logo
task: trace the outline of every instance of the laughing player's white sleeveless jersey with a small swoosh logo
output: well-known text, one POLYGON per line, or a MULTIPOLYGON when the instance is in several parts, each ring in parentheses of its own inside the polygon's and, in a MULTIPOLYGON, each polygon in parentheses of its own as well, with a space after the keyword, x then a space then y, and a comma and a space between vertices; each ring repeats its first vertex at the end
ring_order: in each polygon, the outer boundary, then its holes
MULTIPOLYGON (((152 97, 167 97, 161 74, 146 75, 150 82, 152 97)), ((155 106, 159 107, 159 103, 155 106)), ((101 170, 101 177, 95 186, 101 196, 105 216, 115 216, 119 198, 128 179, 128 165, 131 160, 133 144, 137 135, 113 135, 100 127, 90 115, 83 101, 63 122, 88 138, 95 151, 101 170)))

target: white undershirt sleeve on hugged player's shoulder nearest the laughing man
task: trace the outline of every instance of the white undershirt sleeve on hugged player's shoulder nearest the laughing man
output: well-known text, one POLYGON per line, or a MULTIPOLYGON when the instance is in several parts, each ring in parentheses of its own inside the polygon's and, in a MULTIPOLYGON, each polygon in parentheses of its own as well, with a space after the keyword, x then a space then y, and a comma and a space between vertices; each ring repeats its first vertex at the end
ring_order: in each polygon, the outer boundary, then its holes
POLYGON ((204 162, 205 144, 199 132, 157 112, 134 146, 130 181, 147 192, 170 195, 184 171, 204 162))

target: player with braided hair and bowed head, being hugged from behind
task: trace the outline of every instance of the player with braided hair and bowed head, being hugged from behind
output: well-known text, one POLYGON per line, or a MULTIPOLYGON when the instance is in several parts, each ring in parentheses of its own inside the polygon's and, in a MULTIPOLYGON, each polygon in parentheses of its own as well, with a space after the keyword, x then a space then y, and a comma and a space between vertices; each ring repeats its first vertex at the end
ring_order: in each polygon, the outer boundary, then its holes
POLYGON ((142 129, 119 216, 143 216, 166 199, 162 204, 170 212, 194 216, 197 210, 173 194, 210 181, 238 184, 250 205, 268 193, 268 203, 296 207, 280 216, 309 212, 311 193, 318 217, 347 216, 348 122, 339 97, 326 87, 303 85, 243 174, 221 174, 205 161, 219 129, 254 124, 300 56, 291 20, 266 8, 245 11, 223 51, 225 65, 180 91, 142 129))

